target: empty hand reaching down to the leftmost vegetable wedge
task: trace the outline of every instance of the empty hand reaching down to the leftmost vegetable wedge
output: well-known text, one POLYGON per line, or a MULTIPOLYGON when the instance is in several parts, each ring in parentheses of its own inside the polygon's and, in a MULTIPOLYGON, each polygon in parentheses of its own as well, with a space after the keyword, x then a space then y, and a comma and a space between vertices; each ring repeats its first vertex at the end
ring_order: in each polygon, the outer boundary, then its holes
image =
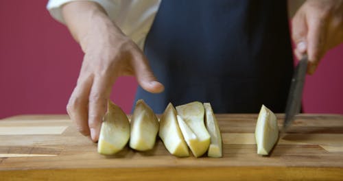
POLYGON ((98 5, 73 2, 64 5, 63 11, 67 26, 85 53, 67 112, 82 134, 91 134, 92 140, 97 141, 107 99, 117 77, 134 75, 150 93, 160 93, 163 85, 156 81, 141 49, 98 5), (81 12, 73 14, 75 11, 81 12))

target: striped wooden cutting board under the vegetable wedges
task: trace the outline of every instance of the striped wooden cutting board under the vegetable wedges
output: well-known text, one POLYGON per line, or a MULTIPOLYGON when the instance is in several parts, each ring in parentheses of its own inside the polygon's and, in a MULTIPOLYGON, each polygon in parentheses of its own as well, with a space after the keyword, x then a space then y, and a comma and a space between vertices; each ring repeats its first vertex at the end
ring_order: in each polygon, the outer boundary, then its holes
MULTIPOLYGON (((277 114, 279 126, 283 114, 277 114)), ((0 180, 343 180, 343 116, 300 114, 271 156, 256 154, 257 114, 217 114, 223 158, 97 154, 67 115, 0 120, 0 180)))

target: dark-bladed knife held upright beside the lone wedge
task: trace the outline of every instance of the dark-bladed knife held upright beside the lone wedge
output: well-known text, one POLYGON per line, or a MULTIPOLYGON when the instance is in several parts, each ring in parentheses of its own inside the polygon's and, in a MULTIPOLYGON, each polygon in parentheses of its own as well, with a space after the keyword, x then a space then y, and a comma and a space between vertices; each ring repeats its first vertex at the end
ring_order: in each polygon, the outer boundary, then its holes
POLYGON ((296 69, 293 73, 291 87, 289 88, 289 94, 287 98, 287 105, 285 111, 285 121, 283 121, 283 129, 281 133, 287 132, 289 125, 294 121, 294 116, 300 113, 301 97, 303 97, 303 87, 305 82, 305 75, 307 71, 307 55, 296 65, 296 69))

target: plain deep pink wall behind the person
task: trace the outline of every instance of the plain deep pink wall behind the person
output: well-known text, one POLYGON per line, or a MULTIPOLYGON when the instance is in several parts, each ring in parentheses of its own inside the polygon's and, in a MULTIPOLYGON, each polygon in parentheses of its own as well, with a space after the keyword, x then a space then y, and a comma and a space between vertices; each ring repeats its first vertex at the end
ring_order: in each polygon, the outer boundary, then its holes
MULTIPOLYGON (((82 62, 47 1, 0 1, 0 119, 15 114, 65 114, 82 62)), ((305 112, 343 114, 343 45, 330 51, 305 84, 305 112)), ((137 82, 123 77, 111 99, 130 112, 137 82), (120 95, 120 96, 119 96, 120 95)))

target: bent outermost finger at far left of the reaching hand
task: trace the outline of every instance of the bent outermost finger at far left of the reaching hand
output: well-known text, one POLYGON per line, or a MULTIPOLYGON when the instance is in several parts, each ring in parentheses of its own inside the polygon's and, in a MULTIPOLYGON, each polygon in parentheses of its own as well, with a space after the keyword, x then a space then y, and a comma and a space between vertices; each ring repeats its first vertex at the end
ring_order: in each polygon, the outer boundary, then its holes
POLYGON ((84 136, 89 135, 88 128, 88 97, 91 90, 93 77, 78 81, 67 104, 67 112, 71 120, 76 123, 79 132, 84 136))

